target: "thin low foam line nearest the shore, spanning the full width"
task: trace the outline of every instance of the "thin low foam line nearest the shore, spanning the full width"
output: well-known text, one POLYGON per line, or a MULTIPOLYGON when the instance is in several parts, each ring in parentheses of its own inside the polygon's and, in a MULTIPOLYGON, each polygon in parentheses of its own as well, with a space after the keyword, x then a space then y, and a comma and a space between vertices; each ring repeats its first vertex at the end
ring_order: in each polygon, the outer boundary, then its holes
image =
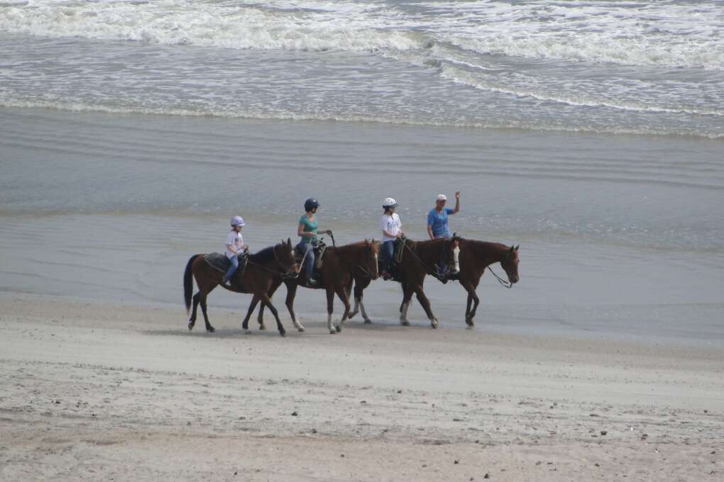
POLYGON ((625 134, 696 137, 704 139, 724 139, 724 132, 697 132, 696 130, 662 130, 646 128, 628 128, 623 126, 565 126, 560 124, 544 124, 542 122, 525 121, 477 121, 477 120, 434 120, 416 119, 412 117, 390 117, 374 115, 342 115, 337 113, 298 113, 292 111, 254 111, 238 108, 201 108, 201 107, 147 107, 147 106, 112 106, 107 104, 90 104, 74 100, 28 100, 0 96, 0 108, 41 108, 59 111, 111 113, 111 114, 142 114, 158 116, 189 116, 219 117, 228 119, 256 119, 261 121, 333 121, 371 124, 397 124, 415 126, 442 126, 466 129, 515 129, 543 132, 579 132, 590 134, 625 134))

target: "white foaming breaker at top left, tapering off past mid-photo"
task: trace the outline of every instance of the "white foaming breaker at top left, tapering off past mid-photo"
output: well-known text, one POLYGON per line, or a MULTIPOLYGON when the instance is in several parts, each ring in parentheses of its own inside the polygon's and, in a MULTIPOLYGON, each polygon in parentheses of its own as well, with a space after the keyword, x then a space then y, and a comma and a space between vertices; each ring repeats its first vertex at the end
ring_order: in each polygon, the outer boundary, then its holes
POLYGON ((226 3, 157 1, 56 4, 0 9, 0 31, 47 37, 134 40, 167 45, 301 51, 404 51, 427 43, 415 31, 390 30, 348 9, 271 9, 226 3))

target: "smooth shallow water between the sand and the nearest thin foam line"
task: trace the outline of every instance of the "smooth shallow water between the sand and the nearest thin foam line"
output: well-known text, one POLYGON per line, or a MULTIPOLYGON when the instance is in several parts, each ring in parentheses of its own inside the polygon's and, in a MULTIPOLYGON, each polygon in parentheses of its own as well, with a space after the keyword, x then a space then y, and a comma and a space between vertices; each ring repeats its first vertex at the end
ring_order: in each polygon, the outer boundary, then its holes
MULTIPOLYGON (((518 285, 484 276, 478 329, 724 343, 721 142, 25 109, 1 111, 0 132, 6 291, 177 304, 182 327, 185 263, 223 249, 233 214, 257 250, 293 238, 313 195, 344 244, 379 237, 394 195, 421 239, 435 195, 459 189, 453 231, 521 244, 518 285)), ((462 288, 426 287, 462 329, 462 288)), ((396 322, 400 297, 377 281, 366 307, 396 322)), ((298 312, 324 317, 324 299, 301 290, 298 312)), ((212 322, 248 301, 214 292, 212 322)), ((410 316, 427 324, 416 302, 410 316)))

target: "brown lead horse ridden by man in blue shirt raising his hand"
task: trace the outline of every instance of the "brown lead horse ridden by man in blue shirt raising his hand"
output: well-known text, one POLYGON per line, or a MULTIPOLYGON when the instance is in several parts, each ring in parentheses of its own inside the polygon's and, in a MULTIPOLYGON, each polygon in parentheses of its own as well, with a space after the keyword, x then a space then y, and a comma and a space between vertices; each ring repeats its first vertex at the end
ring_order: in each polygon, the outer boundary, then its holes
MULTIPOLYGON (((480 300, 476 294, 480 278, 490 264, 500 262, 510 284, 518 283, 518 248, 500 243, 488 243, 474 239, 460 239, 460 285, 468 292, 468 304, 465 309, 465 322, 473 326, 473 318, 480 300), (474 303, 474 304, 473 304, 474 303), (471 309, 471 304, 472 309, 471 309)), ((492 271, 491 271, 492 272, 492 271)), ((493 273, 494 275, 494 273, 493 273)), ((500 279, 500 278, 499 278, 500 279)), ((502 283, 502 281, 501 281, 502 283)))

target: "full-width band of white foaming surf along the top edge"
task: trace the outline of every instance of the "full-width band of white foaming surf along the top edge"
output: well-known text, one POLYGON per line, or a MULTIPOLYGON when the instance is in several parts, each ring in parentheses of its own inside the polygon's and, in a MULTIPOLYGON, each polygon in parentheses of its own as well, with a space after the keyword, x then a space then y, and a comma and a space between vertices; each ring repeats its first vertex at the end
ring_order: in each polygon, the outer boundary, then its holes
POLYGON ((238 49, 410 51, 724 70, 720 2, 0 0, 0 31, 238 49))

